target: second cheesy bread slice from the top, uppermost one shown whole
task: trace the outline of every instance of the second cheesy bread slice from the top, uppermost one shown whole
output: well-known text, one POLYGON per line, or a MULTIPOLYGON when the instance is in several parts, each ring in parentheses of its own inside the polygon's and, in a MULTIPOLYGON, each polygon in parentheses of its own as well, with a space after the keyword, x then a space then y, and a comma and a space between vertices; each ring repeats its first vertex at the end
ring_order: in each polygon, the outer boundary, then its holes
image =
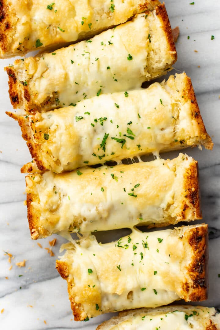
POLYGON ((28 112, 78 105, 104 93, 141 87, 166 74, 176 61, 164 5, 127 23, 41 57, 6 67, 14 108, 28 112))

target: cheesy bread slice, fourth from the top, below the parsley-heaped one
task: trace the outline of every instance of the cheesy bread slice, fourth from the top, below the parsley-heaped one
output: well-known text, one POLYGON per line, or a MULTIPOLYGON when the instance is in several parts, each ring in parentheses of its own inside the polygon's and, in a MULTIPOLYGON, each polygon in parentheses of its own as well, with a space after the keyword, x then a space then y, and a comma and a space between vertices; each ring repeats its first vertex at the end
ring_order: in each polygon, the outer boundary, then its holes
POLYGON ((173 160, 34 173, 26 176, 26 192, 32 239, 201 218, 197 161, 182 153, 173 160))

